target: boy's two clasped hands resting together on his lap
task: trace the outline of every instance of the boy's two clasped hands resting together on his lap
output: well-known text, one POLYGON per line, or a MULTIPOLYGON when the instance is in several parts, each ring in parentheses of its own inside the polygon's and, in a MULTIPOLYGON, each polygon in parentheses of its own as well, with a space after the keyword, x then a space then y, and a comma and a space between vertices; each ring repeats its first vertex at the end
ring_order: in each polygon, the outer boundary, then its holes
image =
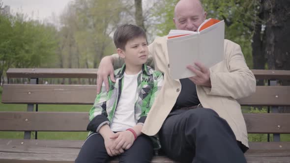
POLYGON ((133 133, 122 131, 113 133, 111 136, 104 138, 105 147, 109 156, 116 156, 124 153, 135 141, 133 133))

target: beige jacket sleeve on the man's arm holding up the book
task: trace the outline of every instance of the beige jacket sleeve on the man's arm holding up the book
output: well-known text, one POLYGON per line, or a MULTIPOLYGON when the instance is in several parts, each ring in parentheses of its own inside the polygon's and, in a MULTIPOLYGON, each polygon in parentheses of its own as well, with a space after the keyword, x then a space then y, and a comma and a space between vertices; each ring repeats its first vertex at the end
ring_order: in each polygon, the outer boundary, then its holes
MULTIPOLYGON (((226 42, 225 42, 226 43, 226 42)), ((229 41, 226 54, 228 72, 214 72, 210 69, 211 88, 203 89, 208 95, 227 96, 240 99, 256 91, 256 79, 247 66, 239 45, 229 41)))

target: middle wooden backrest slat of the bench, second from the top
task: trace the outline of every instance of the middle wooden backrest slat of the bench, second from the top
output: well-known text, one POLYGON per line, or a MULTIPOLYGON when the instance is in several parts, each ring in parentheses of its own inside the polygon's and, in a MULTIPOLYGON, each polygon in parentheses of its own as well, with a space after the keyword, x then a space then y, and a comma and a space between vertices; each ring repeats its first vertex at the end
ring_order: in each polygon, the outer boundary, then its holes
MULTIPOLYGON (((96 85, 4 84, 2 103, 93 104, 96 85)), ((290 106, 290 86, 257 86, 243 106, 290 106)))

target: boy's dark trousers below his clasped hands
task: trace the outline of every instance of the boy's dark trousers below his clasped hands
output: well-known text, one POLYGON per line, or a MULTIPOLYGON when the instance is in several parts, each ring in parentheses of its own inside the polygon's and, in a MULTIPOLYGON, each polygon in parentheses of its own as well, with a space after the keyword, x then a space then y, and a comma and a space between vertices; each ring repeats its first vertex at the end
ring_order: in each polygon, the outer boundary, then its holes
MULTIPOLYGON (((116 156, 119 163, 150 163, 153 157, 153 144, 148 136, 138 136, 130 149, 116 156)), ((87 137, 75 163, 106 163, 115 157, 107 154, 104 139, 100 134, 87 137)))

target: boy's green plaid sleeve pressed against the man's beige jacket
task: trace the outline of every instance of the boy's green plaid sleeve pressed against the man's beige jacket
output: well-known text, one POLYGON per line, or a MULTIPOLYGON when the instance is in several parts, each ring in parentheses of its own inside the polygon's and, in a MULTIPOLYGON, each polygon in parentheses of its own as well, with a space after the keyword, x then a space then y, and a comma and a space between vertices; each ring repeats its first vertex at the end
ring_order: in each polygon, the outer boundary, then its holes
POLYGON ((151 94, 150 94, 150 102, 149 102, 149 107, 146 108, 145 112, 142 113, 141 117, 138 120, 137 124, 143 125, 145 123, 146 117, 148 115, 148 112, 150 111, 156 97, 158 96, 160 89, 163 85, 163 74, 159 71, 154 71, 153 74, 154 78, 154 86, 151 89, 151 94))

